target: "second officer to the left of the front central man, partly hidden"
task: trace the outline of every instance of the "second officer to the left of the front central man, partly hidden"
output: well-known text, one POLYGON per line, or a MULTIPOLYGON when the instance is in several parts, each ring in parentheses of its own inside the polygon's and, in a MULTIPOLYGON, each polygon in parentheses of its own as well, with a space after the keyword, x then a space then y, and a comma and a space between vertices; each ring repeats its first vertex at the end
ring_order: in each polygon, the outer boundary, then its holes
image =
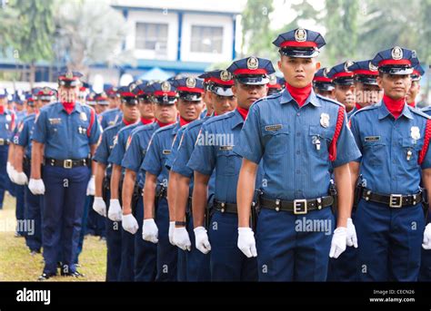
MULTIPOLYGON (((214 107, 215 115, 222 115, 236 109, 236 97, 232 92, 234 81, 231 73, 226 70, 215 70, 201 74, 199 78, 204 78, 207 83, 208 101, 214 107)), ((179 141, 175 159, 169 164, 171 166, 171 173, 175 172, 177 179, 173 242, 178 248, 182 248, 183 250, 190 249, 186 258, 186 280, 189 282, 210 280, 209 256, 204 254, 206 251, 198 251, 195 248, 193 214, 191 210, 192 200, 190 197, 194 186, 193 170, 187 167, 187 162, 190 160, 190 156, 195 149, 197 135, 202 124, 208 118, 210 117, 205 116, 203 119, 188 124, 183 137, 179 141)), ((214 197, 215 178, 216 175, 213 173, 209 181, 208 196, 205 198, 207 202, 214 197)))

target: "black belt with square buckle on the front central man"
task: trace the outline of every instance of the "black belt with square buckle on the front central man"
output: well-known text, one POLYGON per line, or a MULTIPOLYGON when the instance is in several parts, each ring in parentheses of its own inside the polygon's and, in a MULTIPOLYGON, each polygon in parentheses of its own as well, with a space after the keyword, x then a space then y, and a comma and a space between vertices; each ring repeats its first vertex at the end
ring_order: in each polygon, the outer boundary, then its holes
POLYGON ((281 199, 260 199, 260 206, 264 209, 275 209, 276 211, 290 211, 295 215, 303 215, 310 210, 324 209, 334 204, 334 198, 326 196, 317 199, 295 199, 285 201, 281 199))

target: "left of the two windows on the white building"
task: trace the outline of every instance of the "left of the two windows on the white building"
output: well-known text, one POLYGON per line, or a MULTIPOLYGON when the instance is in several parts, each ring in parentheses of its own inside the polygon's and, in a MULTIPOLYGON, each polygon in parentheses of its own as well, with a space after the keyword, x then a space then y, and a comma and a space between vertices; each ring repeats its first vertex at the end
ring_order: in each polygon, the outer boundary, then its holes
POLYGON ((135 48, 166 51, 167 24, 136 23, 135 48))

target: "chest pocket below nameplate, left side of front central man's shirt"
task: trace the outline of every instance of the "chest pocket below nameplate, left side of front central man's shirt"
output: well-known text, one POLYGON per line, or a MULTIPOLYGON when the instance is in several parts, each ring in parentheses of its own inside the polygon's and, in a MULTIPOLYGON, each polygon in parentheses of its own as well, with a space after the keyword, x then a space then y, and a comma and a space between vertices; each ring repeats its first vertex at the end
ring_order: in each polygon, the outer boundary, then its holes
POLYGON ((290 129, 288 124, 266 125, 262 128, 262 133, 266 154, 284 154, 289 151, 290 129))

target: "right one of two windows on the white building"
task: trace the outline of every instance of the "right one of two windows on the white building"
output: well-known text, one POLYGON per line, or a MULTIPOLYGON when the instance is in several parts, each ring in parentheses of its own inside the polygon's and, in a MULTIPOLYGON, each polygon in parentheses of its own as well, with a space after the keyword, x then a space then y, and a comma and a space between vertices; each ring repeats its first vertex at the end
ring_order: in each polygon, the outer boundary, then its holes
POLYGON ((222 53, 223 27, 192 26, 191 52, 222 53))

